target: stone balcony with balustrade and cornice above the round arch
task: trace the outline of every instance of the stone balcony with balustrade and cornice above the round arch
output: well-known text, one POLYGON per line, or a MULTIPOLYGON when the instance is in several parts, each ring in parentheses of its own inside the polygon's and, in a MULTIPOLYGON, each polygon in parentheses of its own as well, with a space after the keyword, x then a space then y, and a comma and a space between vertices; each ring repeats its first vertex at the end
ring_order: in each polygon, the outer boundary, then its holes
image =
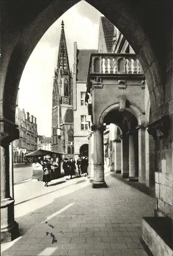
MULTIPOLYGON (((102 81, 117 80, 119 89, 126 89, 127 80, 138 80, 141 88, 145 88, 145 77, 141 63, 136 54, 128 53, 97 53, 91 54, 87 79, 87 95, 89 112, 91 112, 90 91, 94 87, 101 88, 102 81)), ((133 82, 132 82, 133 83, 133 82)), ((131 83, 131 84, 132 84, 131 83)))

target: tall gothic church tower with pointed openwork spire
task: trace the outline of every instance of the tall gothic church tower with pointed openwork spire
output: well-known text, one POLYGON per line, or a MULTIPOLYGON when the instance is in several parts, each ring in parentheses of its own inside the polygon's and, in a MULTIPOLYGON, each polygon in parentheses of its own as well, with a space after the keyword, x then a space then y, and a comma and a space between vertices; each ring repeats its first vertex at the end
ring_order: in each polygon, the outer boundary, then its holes
POLYGON ((72 72, 62 20, 52 93, 52 151, 73 155, 73 134, 72 72))

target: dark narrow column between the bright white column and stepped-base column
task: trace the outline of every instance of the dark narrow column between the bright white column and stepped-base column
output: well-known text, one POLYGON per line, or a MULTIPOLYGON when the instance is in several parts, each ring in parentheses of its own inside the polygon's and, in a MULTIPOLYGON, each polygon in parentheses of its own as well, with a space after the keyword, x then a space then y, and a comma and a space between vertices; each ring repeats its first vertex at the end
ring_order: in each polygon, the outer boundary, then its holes
POLYGON ((128 161, 128 136, 126 134, 120 135, 121 138, 121 176, 128 178, 129 176, 129 161, 128 161))

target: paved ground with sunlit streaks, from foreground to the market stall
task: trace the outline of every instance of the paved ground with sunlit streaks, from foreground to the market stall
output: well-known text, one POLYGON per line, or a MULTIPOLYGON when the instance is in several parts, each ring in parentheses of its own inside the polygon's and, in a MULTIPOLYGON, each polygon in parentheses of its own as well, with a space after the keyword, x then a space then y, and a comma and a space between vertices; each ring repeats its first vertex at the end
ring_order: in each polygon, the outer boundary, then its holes
POLYGON ((61 178, 49 187, 16 184, 21 236, 2 244, 1 255, 148 255, 140 243, 141 218, 153 216, 154 198, 110 173, 105 181, 108 187, 100 189, 86 177, 61 178))

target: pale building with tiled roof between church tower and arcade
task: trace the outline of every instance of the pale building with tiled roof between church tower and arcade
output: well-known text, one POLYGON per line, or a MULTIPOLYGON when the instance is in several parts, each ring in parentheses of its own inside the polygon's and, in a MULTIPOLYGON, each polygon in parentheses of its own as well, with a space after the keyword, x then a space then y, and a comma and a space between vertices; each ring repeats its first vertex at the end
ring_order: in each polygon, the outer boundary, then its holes
POLYGON ((74 156, 88 156, 89 142, 88 131, 90 116, 85 102, 87 77, 91 53, 97 50, 77 49, 74 42, 74 65, 73 65, 73 108, 74 108, 74 156))

